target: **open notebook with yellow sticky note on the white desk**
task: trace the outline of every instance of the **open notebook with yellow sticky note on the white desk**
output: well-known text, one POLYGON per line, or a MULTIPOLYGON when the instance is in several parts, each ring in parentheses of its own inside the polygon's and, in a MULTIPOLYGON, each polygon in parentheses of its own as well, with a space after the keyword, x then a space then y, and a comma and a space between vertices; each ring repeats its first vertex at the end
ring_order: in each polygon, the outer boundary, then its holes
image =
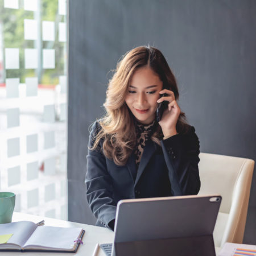
POLYGON ((37 226, 31 221, 0 224, 0 251, 77 251, 84 230, 37 226))

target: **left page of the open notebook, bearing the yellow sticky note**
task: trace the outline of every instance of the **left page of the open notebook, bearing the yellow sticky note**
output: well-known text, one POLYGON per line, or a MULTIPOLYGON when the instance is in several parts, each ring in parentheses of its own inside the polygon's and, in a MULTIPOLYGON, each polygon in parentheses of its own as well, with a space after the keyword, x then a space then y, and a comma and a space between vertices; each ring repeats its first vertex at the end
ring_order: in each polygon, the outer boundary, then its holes
POLYGON ((13 234, 9 241, 5 244, 1 245, 1 248, 8 247, 9 243, 13 243, 15 245, 22 245, 28 240, 31 234, 36 229, 36 224, 31 221, 18 221, 18 222, 11 222, 6 224, 0 225, 0 235, 3 234, 13 234))

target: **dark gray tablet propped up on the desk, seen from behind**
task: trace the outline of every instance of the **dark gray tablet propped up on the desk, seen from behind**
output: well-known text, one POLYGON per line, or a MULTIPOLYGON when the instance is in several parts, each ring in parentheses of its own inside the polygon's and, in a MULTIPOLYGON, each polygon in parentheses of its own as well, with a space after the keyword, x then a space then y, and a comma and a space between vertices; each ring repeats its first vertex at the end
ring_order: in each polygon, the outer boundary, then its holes
POLYGON ((112 255, 215 255, 220 203, 220 195, 121 200, 112 255))

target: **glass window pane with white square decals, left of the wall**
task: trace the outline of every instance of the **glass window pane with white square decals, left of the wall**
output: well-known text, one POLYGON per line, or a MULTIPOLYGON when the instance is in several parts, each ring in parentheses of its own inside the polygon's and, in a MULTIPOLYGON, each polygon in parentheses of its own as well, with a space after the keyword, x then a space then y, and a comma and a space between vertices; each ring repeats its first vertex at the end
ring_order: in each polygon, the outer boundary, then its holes
POLYGON ((0 191, 67 220, 64 0, 0 0, 0 191))

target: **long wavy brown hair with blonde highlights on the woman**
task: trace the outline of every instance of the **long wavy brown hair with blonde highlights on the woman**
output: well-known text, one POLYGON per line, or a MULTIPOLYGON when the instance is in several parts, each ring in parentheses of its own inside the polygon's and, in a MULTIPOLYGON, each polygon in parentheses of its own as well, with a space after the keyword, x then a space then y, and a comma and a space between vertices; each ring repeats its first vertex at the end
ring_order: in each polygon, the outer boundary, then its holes
MULTIPOLYGON (((104 103, 105 115, 98 123, 100 128, 94 137, 93 147, 96 150, 101 139, 104 155, 113 159, 118 166, 124 166, 130 154, 135 149, 137 142, 133 114, 126 105, 125 98, 128 93, 131 77, 141 67, 150 67, 163 81, 163 89, 174 92, 175 99, 179 99, 176 79, 167 64, 162 52, 151 46, 139 46, 122 56, 114 70, 112 79, 109 80, 104 103)), ((188 130, 185 114, 180 113, 177 120, 176 130, 178 133, 186 133, 188 130)), ((151 135, 152 141, 160 145, 163 138, 159 124, 151 135)))

